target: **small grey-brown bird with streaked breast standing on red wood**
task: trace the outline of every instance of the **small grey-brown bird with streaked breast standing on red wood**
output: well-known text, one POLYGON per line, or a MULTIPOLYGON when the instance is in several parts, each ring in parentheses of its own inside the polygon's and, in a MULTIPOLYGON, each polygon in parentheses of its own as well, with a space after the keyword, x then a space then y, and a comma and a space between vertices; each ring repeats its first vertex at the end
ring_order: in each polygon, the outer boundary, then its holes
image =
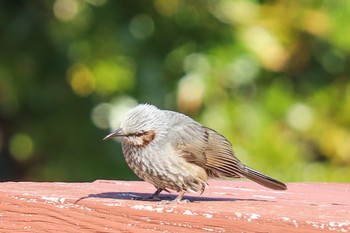
POLYGON ((122 139, 130 169, 155 186, 152 200, 160 200, 163 190, 172 190, 178 195, 171 202, 181 203, 186 192, 202 194, 209 178, 248 178, 270 189, 287 189, 284 183, 244 165, 223 135, 179 112, 139 104, 104 140, 115 137, 122 139))

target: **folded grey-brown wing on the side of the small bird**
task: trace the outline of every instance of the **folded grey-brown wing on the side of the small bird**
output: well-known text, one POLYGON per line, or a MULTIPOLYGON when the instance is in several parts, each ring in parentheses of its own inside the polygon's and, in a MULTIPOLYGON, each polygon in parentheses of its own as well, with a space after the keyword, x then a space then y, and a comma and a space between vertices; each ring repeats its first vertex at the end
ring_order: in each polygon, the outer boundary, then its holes
POLYGON ((186 115, 165 112, 172 122, 168 136, 181 157, 205 168, 211 177, 242 177, 239 169, 243 165, 224 136, 186 115))

